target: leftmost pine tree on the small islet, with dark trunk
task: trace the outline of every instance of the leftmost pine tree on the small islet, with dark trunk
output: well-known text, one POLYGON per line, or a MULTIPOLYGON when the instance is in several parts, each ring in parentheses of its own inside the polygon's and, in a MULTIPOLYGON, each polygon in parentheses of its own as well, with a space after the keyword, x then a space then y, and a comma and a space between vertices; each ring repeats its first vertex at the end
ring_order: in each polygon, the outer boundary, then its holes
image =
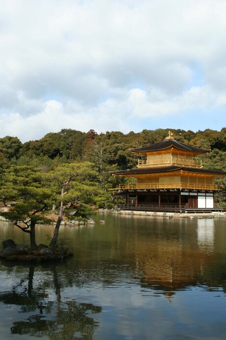
POLYGON ((52 198, 43 174, 33 167, 12 166, 4 172, 4 184, 0 192, 2 200, 4 193, 8 192, 4 200, 15 201, 9 212, 2 214, 23 232, 28 233, 30 245, 36 246, 35 225, 37 222, 46 222, 44 212, 49 209, 52 198))

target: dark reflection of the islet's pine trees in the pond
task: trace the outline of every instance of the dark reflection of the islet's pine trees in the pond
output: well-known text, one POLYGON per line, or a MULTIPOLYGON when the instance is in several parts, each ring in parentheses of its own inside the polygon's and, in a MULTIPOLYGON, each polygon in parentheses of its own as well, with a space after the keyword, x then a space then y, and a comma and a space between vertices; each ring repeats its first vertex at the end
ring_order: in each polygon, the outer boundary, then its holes
MULTIPOLYGON (((48 273, 39 287, 34 287, 35 266, 29 266, 28 278, 21 279, 11 291, 0 296, 0 301, 7 305, 21 306, 20 321, 14 321, 11 335, 30 335, 52 339, 92 340, 98 322, 87 314, 101 312, 100 306, 81 304, 61 299, 61 283, 57 267, 52 267, 52 277, 56 298, 53 298, 53 287, 50 287, 48 273), (52 289, 51 289, 52 288, 52 289)), ((25 269, 24 269, 25 270, 25 269)), ((23 270, 23 272, 24 272, 23 270)), ((62 278, 61 278, 62 279, 62 278)))

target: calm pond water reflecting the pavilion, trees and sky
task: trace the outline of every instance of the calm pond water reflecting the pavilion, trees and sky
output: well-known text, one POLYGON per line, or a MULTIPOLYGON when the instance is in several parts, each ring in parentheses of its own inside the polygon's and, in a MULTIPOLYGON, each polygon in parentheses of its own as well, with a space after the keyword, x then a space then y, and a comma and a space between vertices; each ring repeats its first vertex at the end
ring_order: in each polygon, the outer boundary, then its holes
MULTIPOLYGON (((0 339, 226 339, 225 220, 94 219, 61 227, 74 250, 64 262, 0 262, 0 339)), ((52 233, 38 226, 37 243, 52 233)), ((6 238, 29 243, 0 222, 6 238)))

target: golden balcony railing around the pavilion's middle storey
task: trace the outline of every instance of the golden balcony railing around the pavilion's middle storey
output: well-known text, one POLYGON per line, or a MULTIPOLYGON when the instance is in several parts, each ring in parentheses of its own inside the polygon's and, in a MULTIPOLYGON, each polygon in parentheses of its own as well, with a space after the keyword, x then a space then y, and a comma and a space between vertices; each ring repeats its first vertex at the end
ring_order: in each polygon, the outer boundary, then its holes
POLYGON ((195 189, 195 190, 220 190, 216 184, 199 183, 142 183, 142 184, 119 184, 119 189, 195 189))

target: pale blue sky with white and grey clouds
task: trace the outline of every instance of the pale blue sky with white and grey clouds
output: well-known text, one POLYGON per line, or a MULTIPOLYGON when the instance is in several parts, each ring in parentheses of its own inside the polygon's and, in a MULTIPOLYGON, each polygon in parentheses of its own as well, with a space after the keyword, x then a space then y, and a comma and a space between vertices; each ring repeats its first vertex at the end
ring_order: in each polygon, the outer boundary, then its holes
POLYGON ((226 127, 226 0, 0 0, 0 137, 226 127))

